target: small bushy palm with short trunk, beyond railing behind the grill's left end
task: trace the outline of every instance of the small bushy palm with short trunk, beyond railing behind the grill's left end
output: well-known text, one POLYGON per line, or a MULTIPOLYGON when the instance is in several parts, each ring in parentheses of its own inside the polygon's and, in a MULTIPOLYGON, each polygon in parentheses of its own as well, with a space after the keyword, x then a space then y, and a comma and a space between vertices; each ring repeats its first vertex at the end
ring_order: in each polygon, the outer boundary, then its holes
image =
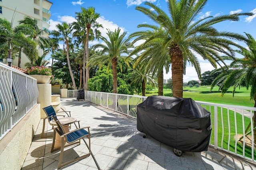
POLYGON ((137 87, 142 87, 142 96, 146 94, 146 85, 147 82, 154 84, 156 82, 156 76, 153 76, 152 73, 148 73, 146 66, 139 64, 135 68, 130 68, 132 70, 132 75, 130 80, 132 83, 135 83, 137 87))

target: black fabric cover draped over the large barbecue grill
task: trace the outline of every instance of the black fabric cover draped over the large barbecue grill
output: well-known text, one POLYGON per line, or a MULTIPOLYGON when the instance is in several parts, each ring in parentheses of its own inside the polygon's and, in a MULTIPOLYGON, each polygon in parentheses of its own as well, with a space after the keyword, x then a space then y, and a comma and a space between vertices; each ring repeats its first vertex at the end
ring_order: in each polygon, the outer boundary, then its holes
POLYGON ((182 151, 208 149, 210 112, 191 98, 149 96, 137 106, 137 129, 182 151))

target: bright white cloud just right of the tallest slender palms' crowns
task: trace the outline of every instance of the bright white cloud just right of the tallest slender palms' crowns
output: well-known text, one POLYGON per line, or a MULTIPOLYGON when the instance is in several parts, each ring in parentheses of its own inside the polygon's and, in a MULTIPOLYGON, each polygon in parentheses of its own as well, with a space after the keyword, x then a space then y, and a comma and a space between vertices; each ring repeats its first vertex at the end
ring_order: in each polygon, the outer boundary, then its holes
MULTIPOLYGON (((119 27, 116 23, 113 23, 113 21, 106 20, 104 16, 100 16, 96 21, 102 24, 103 28, 99 28, 99 31, 101 32, 101 35, 106 38, 108 37, 107 29, 110 29, 110 31, 115 31, 115 29, 118 29, 119 27)), ((124 27, 119 27, 119 28, 121 29, 120 31, 121 34, 126 31, 124 27)))

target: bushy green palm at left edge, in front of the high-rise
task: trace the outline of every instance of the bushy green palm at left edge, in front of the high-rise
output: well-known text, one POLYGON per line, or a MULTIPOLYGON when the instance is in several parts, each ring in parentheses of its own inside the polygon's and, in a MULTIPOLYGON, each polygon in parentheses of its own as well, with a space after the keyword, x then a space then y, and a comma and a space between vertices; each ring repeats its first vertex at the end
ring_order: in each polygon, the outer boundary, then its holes
POLYGON ((7 49, 8 57, 15 57, 12 52, 18 52, 19 47, 26 47, 34 56, 36 54, 36 43, 26 35, 31 34, 32 29, 28 25, 17 25, 12 27, 12 22, 5 18, 0 18, 0 39, 2 39, 1 49, 7 49))

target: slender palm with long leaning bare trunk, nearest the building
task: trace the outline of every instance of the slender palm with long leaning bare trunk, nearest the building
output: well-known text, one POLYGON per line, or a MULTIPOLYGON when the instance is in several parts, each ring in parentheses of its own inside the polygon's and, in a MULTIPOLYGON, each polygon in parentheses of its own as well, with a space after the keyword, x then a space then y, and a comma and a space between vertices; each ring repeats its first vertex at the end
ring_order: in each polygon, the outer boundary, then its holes
POLYGON ((74 86, 74 90, 76 90, 76 83, 75 83, 75 79, 72 73, 72 69, 71 69, 71 65, 70 65, 70 59, 69 59, 69 50, 70 50, 70 43, 71 43, 71 28, 72 28, 72 24, 70 23, 66 23, 63 22, 62 24, 58 23, 56 25, 57 27, 57 31, 54 30, 52 31, 52 34, 55 37, 60 37, 62 38, 62 41, 64 41, 64 45, 66 45, 66 48, 64 48, 65 46, 63 45, 63 53, 66 51, 67 54, 67 61, 68 61, 68 68, 69 68, 69 73, 72 79, 72 83, 74 86))

